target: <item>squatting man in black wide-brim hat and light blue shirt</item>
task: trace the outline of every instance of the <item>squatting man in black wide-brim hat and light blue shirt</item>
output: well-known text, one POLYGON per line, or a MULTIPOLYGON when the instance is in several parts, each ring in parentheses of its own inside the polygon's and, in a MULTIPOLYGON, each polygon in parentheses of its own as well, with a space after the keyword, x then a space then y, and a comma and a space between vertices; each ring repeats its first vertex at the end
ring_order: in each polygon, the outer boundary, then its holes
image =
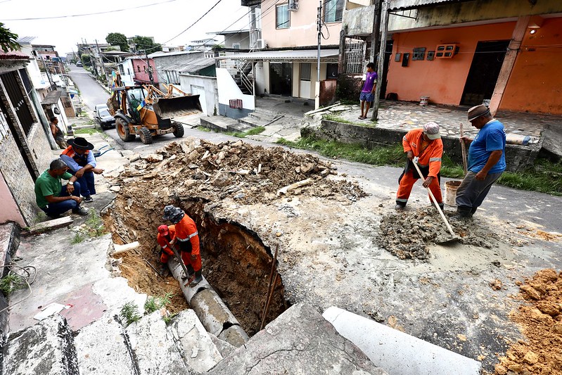
POLYGON ((68 165, 70 174, 76 177, 77 182, 82 186, 81 193, 84 202, 94 201, 91 196, 96 193, 94 184, 94 173, 101 174, 103 170, 96 168, 98 163, 91 150, 94 145, 89 143, 81 136, 67 141, 69 146, 60 154, 60 158, 68 165))

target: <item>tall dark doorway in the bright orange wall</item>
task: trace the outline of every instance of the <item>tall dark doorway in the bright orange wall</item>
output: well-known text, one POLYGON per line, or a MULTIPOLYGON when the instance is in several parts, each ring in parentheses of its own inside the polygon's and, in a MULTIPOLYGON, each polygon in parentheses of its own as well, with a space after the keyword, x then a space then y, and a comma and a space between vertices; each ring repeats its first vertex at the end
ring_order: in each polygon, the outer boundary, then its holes
POLYGON ((492 98, 508 45, 509 40, 478 42, 464 85, 461 105, 478 106, 485 99, 492 98))

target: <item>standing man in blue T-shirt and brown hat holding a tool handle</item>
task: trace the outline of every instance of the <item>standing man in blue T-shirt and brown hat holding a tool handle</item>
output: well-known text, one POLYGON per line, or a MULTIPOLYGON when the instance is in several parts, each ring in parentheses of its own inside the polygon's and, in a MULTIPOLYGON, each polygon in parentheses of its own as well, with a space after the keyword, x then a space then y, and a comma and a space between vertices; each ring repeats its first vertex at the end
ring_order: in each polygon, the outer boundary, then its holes
POLYGON ((506 170, 506 132, 502 122, 494 119, 487 106, 468 110, 468 121, 478 134, 468 148, 468 173, 456 191, 456 217, 470 218, 486 198, 492 184, 506 170))

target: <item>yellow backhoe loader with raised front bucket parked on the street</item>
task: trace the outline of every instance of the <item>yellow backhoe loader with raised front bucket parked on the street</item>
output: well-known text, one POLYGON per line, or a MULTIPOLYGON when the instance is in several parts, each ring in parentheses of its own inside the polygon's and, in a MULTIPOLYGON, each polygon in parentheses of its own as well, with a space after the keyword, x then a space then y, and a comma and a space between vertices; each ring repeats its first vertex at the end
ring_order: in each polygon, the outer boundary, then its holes
POLYGON ((151 144, 153 137, 162 134, 184 136, 183 125, 172 120, 202 112, 199 96, 186 94, 172 84, 164 87, 167 92, 151 84, 124 86, 120 74, 113 73, 108 108, 122 141, 133 141, 138 135, 143 144, 151 144))

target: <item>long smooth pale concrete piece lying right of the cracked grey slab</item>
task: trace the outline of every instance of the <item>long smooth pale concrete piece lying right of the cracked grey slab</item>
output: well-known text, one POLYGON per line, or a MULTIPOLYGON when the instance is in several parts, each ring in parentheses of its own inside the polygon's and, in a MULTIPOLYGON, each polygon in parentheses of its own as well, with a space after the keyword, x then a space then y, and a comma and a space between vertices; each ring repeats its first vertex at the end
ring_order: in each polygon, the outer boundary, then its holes
POLYGON ((330 307, 324 318, 392 375, 478 375, 481 364, 357 314, 330 307))

